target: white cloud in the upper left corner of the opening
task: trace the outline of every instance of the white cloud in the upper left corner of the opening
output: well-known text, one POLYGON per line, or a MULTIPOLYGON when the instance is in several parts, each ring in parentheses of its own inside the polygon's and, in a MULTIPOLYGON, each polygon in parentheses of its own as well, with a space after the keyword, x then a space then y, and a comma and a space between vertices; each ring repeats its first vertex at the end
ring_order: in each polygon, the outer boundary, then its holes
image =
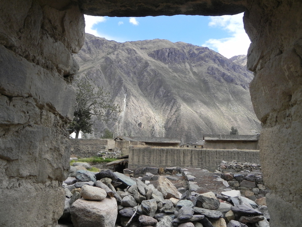
POLYGON ((85 32, 89 33, 91 35, 95 35, 97 37, 102 37, 107 40, 114 40, 117 42, 125 42, 122 38, 118 37, 112 37, 110 35, 106 35, 103 33, 100 33, 95 27, 95 25, 98 25, 99 23, 105 22, 107 20, 106 17, 97 17, 97 16, 89 16, 89 15, 84 15, 85 17, 85 32))

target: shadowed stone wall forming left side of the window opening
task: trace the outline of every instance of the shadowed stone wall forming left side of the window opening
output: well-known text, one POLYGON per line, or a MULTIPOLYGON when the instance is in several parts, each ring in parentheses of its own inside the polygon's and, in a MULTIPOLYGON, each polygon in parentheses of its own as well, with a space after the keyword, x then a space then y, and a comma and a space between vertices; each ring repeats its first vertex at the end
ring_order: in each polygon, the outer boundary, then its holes
POLYGON ((83 41, 84 18, 70 1, 1 1, 0 226, 55 226, 63 213, 69 77, 83 41))

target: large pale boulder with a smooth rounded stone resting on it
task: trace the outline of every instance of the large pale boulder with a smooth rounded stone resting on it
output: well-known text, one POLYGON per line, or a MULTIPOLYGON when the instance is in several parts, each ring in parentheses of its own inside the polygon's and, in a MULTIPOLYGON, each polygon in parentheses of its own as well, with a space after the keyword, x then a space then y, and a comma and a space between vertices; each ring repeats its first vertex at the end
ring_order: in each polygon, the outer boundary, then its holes
POLYGON ((114 198, 102 201, 78 199, 70 207, 75 227, 114 227, 117 218, 117 202, 114 198))

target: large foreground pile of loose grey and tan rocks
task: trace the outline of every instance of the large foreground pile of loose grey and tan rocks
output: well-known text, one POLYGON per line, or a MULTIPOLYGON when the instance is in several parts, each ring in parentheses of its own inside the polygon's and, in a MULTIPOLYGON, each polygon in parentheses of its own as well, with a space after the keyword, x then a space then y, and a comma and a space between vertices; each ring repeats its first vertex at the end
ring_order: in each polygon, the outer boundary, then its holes
POLYGON ((267 207, 241 196, 239 190, 197 194, 177 189, 165 176, 158 176, 156 183, 157 188, 111 170, 77 170, 63 183, 62 219, 71 219, 75 227, 269 226, 267 207))

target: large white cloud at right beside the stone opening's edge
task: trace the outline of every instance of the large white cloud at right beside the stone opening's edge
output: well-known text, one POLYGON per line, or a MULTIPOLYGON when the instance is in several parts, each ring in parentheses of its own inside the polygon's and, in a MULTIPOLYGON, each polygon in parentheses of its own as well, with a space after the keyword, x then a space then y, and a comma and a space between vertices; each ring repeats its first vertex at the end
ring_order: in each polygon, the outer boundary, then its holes
POLYGON ((214 49, 226 58, 231 58, 239 54, 247 54, 249 44, 248 35, 243 28, 243 13, 237 15, 224 15, 210 17, 210 27, 220 27, 230 33, 230 37, 222 39, 209 39, 203 44, 210 49, 214 49))

